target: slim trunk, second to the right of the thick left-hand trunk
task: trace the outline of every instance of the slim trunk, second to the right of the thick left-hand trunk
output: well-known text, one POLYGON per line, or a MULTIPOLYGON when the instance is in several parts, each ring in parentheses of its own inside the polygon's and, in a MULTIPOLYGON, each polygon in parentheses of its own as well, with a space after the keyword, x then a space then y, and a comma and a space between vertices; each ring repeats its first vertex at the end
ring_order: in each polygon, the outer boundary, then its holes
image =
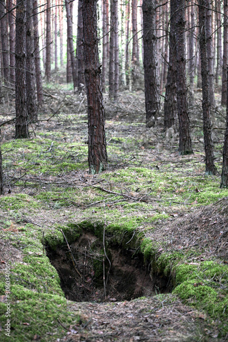
POLYGON ((35 55, 35 68, 36 68, 36 91, 38 107, 42 106, 42 75, 40 68, 40 44, 39 44, 39 31, 38 31, 38 1, 34 0, 34 55, 35 55))

